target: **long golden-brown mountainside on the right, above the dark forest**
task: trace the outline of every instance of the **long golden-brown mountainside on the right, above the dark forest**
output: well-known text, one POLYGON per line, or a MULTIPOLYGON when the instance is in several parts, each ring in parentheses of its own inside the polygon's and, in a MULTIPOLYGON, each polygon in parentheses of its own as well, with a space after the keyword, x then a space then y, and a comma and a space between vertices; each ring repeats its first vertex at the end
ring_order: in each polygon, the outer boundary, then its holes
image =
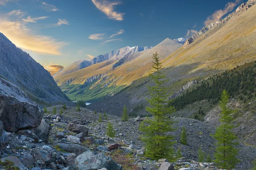
MULTIPOLYGON (((161 60, 163 73, 169 78, 167 87, 170 92, 183 91, 183 87, 193 85, 193 81, 256 60, 256 5, 251 6, 255 2, 249 0, 243 3, 228 15, 232 19, 224 18, 210 24, 207 27, 209 29, 203 28, 204 31, 192 36, 190 43, 185 43, 182 48, 161 60)), ((97 111, 104 108, 106 112, 122 115, 122 108, 126 105, 131 113, 137 104, 147 104, 147 85, 150 85, 150 79, 145 76, 122 92, 89 108, 97 111)))

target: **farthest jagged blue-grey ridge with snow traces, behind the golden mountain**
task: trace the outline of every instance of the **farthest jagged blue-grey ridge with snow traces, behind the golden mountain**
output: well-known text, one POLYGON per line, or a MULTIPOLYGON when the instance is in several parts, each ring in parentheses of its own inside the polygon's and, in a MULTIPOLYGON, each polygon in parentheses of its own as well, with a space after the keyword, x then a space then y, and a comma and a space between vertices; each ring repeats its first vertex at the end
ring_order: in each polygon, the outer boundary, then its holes
POLYGON ((65 75, 71 72, 76 72, 80 69, 84 69, 88 66, 91 66, 96 63, 101 63, 103 61, 107 60, 118 60, 120 58, 123 58, 125 55, 132 55, 134 52, 141 52, 147 49, 151 49, 151 46, 134 46, 134 47, 129 47, 126 46, 122 49, 117 49, 112 52, 106 53, 104 55, 98 55, 96 58, 93 58, 91 60, 81 60, 81 61, 76 61, 75 63, 70 64, 70 66, 67 66, 60 72, 56 73, 53 77, 58 77, 58 75, 65 75))

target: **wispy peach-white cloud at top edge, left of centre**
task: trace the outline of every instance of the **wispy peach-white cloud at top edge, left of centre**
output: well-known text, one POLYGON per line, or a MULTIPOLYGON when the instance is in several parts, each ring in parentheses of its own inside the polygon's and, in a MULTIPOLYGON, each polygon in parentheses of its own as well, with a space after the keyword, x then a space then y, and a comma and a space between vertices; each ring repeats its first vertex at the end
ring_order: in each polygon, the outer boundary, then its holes
POLYGON ((123 15, 125 13, 114 11, 114 6, 119 5, 120 2, 108 2, 107 0, 92 0, 92 2, 100 11, 106 14, 109 19, 118 21, 124 20, 123 15))

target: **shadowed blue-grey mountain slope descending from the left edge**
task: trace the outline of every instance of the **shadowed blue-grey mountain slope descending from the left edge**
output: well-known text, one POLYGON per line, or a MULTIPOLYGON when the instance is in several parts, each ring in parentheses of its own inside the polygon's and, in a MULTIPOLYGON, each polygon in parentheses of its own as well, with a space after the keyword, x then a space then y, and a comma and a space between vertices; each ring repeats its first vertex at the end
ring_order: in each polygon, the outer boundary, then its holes
POLYGON ((2 33, 0 33, 0 77, 19 86, 33 100, 48 103, 69 101, 50 73, 2 33))

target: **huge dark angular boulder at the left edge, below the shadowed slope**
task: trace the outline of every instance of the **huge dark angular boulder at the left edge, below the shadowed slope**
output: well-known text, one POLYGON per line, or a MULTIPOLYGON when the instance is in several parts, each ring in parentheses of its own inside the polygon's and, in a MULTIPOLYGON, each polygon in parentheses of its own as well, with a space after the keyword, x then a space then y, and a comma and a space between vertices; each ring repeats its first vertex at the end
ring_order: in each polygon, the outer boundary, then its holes
POLYGON ((38 127, 43 112, 15 84, 0 78, 0 121, 8 132, 38 127))

